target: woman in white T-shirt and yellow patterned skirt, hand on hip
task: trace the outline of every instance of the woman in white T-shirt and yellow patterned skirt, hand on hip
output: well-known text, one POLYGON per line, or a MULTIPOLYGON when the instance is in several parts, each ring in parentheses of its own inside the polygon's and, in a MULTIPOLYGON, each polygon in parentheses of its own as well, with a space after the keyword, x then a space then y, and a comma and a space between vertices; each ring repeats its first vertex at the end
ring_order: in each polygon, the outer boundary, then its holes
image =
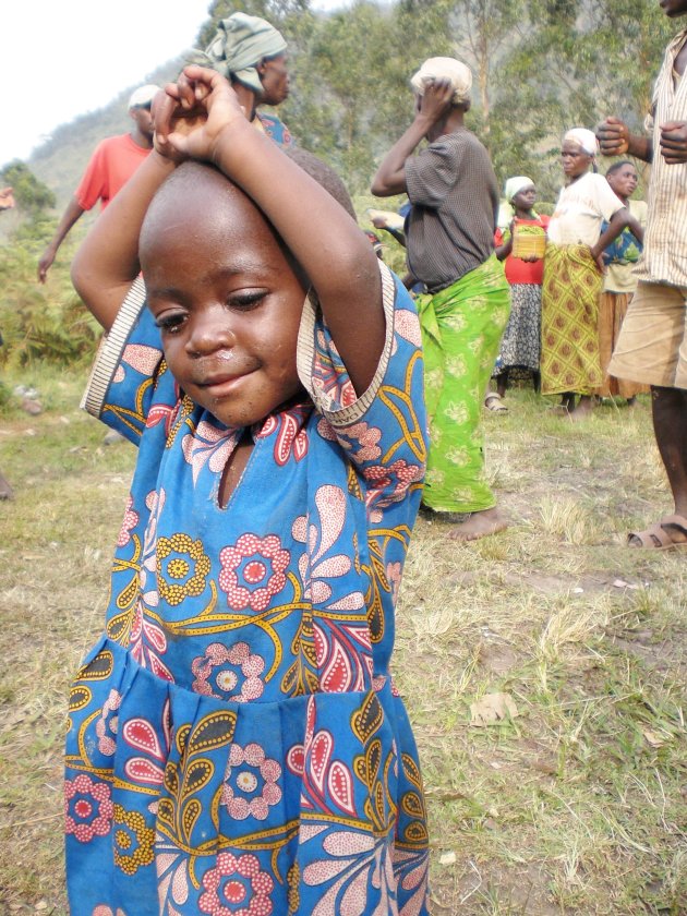
POLYGON ((542 289, 542 394, 562 395, 561 410, 576 420, 591 412, 602 378, 596 328, 602 253, 631 221, 595 173, 595 154, 592 131, 574 128, 563 137, 568 183, 549 224, 542 289), (601 232, 604 219, 608 227, 601 232))

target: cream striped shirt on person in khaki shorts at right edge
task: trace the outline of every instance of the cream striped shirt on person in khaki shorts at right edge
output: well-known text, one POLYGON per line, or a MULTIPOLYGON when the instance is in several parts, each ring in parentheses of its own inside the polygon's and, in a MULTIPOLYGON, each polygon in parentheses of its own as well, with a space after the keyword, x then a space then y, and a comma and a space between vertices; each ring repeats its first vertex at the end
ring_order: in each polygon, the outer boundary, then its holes
POLYGON ((675 84, 673 69, 687 29, 665 49, 653 89, 647 130, 653 132, 653 162, 649 183, 644 250, 635 275, 648 282, 687 287, 687 162, 667 166, 661 155, 660 125, 687 121, 687 75, 675 84))

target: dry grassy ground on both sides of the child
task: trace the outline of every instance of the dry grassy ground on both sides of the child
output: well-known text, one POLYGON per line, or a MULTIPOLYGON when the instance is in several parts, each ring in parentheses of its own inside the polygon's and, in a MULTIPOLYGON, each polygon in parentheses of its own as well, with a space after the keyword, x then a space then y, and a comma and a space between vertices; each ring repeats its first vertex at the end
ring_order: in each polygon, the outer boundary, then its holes
MULTIPOLYGON (((103 446, 83 378, 21 381, 47 409, 0 419, 16 494, 0 503, 0 913, 64 914, 67 689, 101 626, 133 449, 103 446)), ((574 425, 531 391, 508 402, 485 425, 511 527, 458 545, 420 519, 398 610, 432 912, 686 914, 685 554, 624 546, 671 508, 648 403, 574 425)))

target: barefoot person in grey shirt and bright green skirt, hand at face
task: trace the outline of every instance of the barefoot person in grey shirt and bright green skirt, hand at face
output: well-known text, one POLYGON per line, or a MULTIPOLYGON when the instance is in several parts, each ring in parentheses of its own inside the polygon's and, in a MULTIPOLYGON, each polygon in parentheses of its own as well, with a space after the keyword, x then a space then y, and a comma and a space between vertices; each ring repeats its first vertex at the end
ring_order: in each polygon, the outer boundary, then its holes
POLYGON ((430 455, 424 506, 473 541, 506 527, 484 474, 482 400, 508 320, 510 291, 494 255, 498 185, 489 153, 465 125, 472 74, 431 58, 414 74, 415 117, 372 184, 407 193, 408 266, 427 292, 417 299, 425 359, 430 455), (414 154, 422 140, 429 145, 414 154))

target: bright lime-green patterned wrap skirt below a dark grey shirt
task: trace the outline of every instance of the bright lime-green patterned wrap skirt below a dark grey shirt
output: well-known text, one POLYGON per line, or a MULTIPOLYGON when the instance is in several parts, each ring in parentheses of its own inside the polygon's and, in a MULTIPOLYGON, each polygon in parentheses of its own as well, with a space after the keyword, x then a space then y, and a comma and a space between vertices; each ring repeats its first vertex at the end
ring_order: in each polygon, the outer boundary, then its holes
POLYGON ((425 363, 430 453, 423 503, 473 513, 496 504, 484 475, 482 400, 510 311, 510 290, 492 255, 434 296, 417 300, 425 363))

